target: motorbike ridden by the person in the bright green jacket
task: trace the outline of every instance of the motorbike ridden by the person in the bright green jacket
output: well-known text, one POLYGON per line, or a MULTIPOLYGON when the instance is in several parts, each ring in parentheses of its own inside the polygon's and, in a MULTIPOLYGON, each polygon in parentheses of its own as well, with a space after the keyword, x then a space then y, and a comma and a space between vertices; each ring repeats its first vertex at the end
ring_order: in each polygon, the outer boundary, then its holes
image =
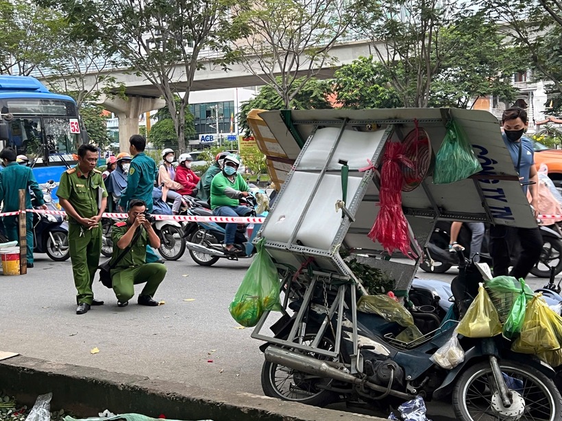
MULTIPOLYGON (((212 210, 206 202, 197 201, 188 198, 189 208, 188 215, 193 216, 212 216, 212 210)), ((254 196, 249 195, 245 199, 241 199, 241 205, 247 205, 252 209, 256 208, 257 202, 254 196)), ((267 215, 267 212, 260 216, 267 215)), ((252 215, 256 216, 252 211, 252 215)), ((252 240, 256 233, 260 230, 261 224, 239 224, 234 236, 234 251, 227 252, 224 250, 222 243, 225 234, 225 224, 217 222, 193 222, 184 227, 184 235, 189 239, 186 247, 189 255, 195 263, 201 266, 212 266, 219 259, 238 260, 252 257, 256 252, 252 240)))

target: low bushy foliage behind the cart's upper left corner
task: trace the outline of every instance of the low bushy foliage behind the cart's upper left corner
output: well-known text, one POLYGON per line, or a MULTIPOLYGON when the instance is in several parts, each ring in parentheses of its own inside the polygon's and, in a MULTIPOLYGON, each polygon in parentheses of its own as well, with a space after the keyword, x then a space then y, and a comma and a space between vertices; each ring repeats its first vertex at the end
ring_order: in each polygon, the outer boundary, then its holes
MULTIPOLYGON (((314 78, 308 79, 301 90, 289 102, 289 108, 292 110, 332 108, 330 101, 328 101, 329 92, 330 81, 314 78)), ((270 85, 262 86, 256 97, 241 104, 238 121, 244 136, 252 134, 249 130, 247 115, 254 108, 260 110, 282 110, 285 108, 285 105, 276 88, 270 85)))

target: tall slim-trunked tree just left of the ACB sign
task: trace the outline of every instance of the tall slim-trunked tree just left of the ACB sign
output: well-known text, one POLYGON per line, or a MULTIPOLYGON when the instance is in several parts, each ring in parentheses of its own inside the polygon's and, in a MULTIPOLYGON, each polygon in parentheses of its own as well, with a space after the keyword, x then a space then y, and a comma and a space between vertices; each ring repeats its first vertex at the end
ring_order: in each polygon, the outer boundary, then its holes
POLYGON ((185 151, 185 110, 195 71, 205 58, 230 49, 234 34, 228 18, 234 0, 38 1, 62 10, 77 38, 102 44, 158 88, 171 112, 179 149, 185 151), (184 95, 176 103, 179 92, 184 95))

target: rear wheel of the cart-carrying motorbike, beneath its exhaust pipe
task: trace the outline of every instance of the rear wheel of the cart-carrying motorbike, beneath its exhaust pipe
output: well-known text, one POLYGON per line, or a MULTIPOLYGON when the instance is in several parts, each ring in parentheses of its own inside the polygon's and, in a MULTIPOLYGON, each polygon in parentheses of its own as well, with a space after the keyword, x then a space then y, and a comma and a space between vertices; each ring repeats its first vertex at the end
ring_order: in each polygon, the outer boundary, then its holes
MULTIPOLYGON (((315 335, 304 335, 303 344, 310 345, 314 339, 315 335)), ((330 337, 323 337, 318 347, 325 350, 333 350, 335 348, 334 341, 330 337)), ((320 360, 329 359, 329 357, 315 353, 306 353, 306 355, 320 360)), ((333 379, 313 376, 312 374, 306 374, 269 361, 264 361, 262 366, 262 390, 265 396, 270 396, 271 398, 324 407, 334 403, 339 398, 337 393, 325 388, 332 381, 333 379)))

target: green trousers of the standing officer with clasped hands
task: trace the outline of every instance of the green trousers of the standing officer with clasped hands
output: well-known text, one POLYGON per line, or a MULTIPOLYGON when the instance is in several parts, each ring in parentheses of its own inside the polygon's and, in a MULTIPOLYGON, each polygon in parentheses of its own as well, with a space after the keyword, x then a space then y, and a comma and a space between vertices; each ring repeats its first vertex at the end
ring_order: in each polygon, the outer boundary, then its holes
POLYGON ((99 265, 101 253, 101 224, 87 229, 78 224, 69 224, 69 249, 72 261, 74 285, 78 303, 92 304, 92 284, 99 265))

